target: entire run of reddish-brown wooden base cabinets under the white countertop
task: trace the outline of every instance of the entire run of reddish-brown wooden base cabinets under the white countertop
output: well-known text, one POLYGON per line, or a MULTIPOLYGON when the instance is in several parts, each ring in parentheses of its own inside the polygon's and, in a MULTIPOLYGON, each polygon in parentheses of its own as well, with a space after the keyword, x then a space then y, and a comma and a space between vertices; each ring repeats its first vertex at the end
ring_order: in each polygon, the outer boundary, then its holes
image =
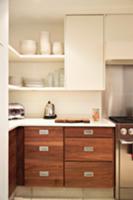
POLYGON ((114 187, 114 129, 25 127, 9 134, 9 193, 16 185, 114 187))

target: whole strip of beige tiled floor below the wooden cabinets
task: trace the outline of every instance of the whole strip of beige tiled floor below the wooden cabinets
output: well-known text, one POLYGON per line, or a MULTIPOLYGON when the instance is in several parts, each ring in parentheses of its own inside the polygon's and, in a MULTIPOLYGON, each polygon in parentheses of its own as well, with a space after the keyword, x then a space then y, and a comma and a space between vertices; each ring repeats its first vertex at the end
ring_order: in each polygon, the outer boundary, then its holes
POLYGON ((112 190, 18 187, 14 200, 113 200, 112 190))

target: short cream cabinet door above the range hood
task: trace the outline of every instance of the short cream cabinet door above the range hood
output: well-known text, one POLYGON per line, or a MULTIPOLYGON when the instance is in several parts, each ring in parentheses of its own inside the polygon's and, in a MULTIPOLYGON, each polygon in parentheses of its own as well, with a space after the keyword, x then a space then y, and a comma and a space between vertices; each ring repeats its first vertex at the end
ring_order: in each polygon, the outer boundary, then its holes
POLYGON ((106 60, 133 59, 133 15, 105 17, 106 60))

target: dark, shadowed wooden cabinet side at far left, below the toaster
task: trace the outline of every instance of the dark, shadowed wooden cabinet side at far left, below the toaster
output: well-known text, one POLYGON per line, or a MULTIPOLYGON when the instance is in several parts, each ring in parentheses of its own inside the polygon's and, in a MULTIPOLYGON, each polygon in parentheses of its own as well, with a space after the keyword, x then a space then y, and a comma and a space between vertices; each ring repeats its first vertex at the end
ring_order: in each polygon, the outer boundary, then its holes
POLYGON ((9 196, 16 186, 24 185, 24 131, 19 127, 9 132, 9 196))

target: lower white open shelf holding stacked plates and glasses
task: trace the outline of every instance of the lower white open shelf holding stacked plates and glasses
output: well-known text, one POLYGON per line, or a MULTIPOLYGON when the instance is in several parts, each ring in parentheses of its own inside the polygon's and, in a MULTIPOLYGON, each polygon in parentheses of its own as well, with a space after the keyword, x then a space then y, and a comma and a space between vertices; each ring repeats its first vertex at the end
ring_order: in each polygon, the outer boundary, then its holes
POLYGON ((23 87, 8 85, 10 91, 65 91, 64 87, 23 87))

